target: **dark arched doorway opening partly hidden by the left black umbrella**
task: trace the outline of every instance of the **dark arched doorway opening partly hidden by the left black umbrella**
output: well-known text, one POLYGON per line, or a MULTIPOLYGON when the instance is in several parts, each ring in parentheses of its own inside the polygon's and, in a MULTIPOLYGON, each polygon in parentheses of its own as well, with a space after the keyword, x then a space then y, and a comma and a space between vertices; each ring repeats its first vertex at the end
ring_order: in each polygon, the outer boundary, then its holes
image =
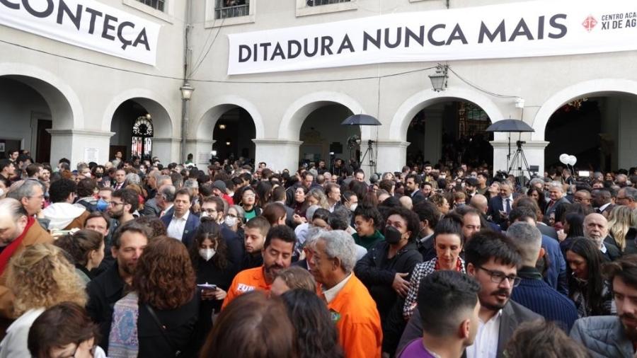
POLYGON ((340 124, 352 114, 345 105, 333 102, 324 103, 311 111, 299 129, 299 140, 302 142, 299 163, 318 166, 319 161, 325 161, 328 168, 331 168, 331 160, 335 158, 355 166, 360 166, 361 159, 368 163, 369 154, 362 158, 367 146, 360 143, 360 127, 340 124))

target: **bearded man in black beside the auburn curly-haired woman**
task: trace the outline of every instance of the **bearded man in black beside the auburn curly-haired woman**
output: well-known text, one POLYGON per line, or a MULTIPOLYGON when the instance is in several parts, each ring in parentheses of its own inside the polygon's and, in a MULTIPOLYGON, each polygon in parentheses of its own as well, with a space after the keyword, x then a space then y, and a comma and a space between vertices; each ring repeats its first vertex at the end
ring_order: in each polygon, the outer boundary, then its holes
MULTIPOLYGON (((110 248, 115 265, 88 283, 88 304, 86 311, 93 322, 100 326, 102 337, 108 337, 113 321, 113 306, 125 295, 125 287, 130 286, 139 256, 148 244, 147 226, 130 221, 120 226, 113 236, 110 248)), ((108 351, 108 340, 101 340, 100 347, 108 351)))

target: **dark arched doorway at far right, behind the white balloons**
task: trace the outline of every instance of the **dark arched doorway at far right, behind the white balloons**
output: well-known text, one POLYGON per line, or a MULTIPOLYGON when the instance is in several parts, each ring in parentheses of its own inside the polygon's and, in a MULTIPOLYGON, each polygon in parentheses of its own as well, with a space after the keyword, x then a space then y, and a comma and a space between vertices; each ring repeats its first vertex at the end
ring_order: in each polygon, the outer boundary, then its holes
POLYGON ((636 116, 637 96, 629 93, 587 93, 568 100, 546 123, 546 168, 563 166, 563 153, 577 157, 576 166, 585 171, 634 166, 636 116))

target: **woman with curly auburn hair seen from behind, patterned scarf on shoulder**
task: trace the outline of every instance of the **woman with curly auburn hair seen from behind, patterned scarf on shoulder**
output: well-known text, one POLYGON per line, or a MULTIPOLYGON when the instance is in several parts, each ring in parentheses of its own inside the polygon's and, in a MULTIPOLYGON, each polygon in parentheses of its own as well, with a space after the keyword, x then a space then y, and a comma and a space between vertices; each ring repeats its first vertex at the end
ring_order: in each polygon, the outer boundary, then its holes
POLYGON ((117 301, 108 357, 191 357, 199 300, 195 270, 183 243, 155 238, 137 261, 133 291, 117 301))

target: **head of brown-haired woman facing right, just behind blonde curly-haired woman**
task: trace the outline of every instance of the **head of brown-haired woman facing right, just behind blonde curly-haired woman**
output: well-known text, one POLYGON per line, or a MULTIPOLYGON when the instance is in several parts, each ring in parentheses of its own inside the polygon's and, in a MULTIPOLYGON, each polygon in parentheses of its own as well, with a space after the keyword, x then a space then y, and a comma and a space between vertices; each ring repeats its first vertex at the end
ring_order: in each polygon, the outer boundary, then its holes
POLYGON ((93 230, 80 230, 58 238, 54 245, 66 251, 84 285, 91 282, 91 270, 104 259, 104 236, 93 230))

